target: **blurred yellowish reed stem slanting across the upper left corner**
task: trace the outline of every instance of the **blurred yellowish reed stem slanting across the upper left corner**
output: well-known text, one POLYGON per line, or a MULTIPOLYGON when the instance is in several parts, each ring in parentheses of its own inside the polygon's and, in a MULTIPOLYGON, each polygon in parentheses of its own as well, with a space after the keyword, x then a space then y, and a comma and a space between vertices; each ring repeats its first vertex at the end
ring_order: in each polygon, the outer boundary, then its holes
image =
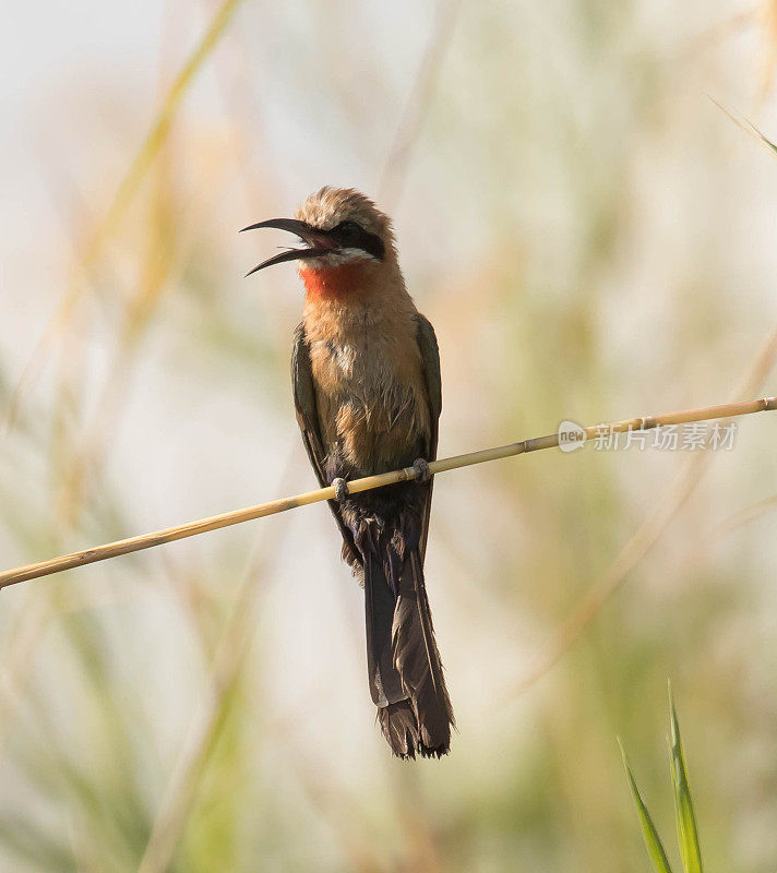
POLYGON ((224 0, 216 14, 211 20, 202 38, 194 47, 189 59, 181 68, 178 75, 170 85, 159 112, 156 116, 151 130, 148 131, 143 145, 135 155, 132 164, 124 174, 119 187, 113 195, 105 217, 99 223, 97 230, 93 235, 86 252, 68 284, 68 287, 57 303, 51 319, 49 320, 43 335, 33 349, 27 363, 22 371, 22 375, 16 383, 9 402, 8 410, 3 420, 3 430, 7 432, 16 420, 22 398, 27 387, 35 381, 39 371, 44 352, 56 342, 63 327, 69 322, 85 290, 85 274, 95 265, 103 253, 105 243, 118 228, 132 200, 134 199, 141 182, 145 178, 148 168, 154 163, 154 158, 167 139, 172 120, 180 107, 180 104, 193 82, 196 73, 202 68, 207 56, 218 43, 222 34, 226 29, 236 9, 242 0, 224 0))

